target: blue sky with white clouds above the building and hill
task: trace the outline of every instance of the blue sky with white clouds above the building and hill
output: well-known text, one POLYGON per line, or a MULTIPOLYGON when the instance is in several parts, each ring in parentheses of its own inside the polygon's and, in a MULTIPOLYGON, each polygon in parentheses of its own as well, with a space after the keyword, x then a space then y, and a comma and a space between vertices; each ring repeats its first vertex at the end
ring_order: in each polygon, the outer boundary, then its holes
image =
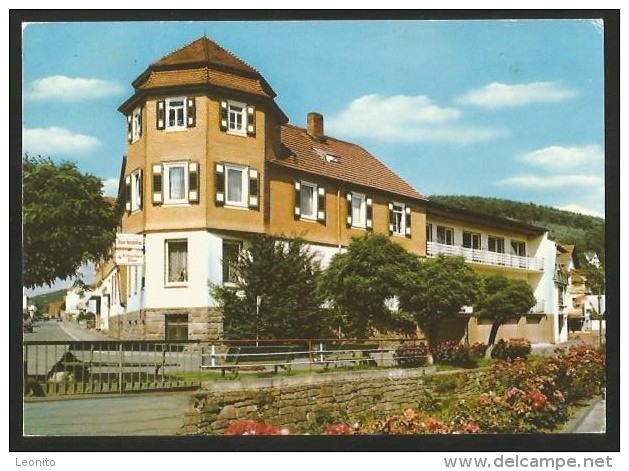
POLYGON ((207 35, 255 67, 291 123, 362 145, 422 194, 604 216, 596 20, 54 22, 23 27, 23 151, 115 196, 117 111, 149 64, 207 35))

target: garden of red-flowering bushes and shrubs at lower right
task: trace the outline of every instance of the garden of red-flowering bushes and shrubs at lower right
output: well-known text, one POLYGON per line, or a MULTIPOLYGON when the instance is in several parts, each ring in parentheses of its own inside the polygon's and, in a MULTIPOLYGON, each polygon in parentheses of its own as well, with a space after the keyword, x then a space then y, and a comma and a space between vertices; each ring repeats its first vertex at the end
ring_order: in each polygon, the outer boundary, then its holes
MULTIPOLYGON (((328 416, 306 428, 280 427, 255 419, 233 421, 226 435, 397 435, 552 433, 590 398, 604 393, 605 351, 592 345, 531 354, 524 339, 498 341, 486 355, 483 344, 436 346, 437 371, 412 408, 392 415, 328 416), (490 357, 490 358, 488 358, 490 357), (489 365, 489 366, 487 366, 489 365)), ((398 348, 400 367, 425 364, 423 344, 398 348), (403 348, 403 349, 402 349, 403 348)))

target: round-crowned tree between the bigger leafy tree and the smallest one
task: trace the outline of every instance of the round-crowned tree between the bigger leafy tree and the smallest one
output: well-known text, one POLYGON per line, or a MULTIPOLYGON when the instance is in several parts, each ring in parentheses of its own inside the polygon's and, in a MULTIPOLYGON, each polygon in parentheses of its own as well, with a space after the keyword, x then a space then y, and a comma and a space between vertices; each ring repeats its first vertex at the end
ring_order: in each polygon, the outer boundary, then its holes
POLYGON ((419 325, 432 351, 444 320, 474 304, 478 290, 478 276, 463 257, 439 255, 424 260, 408 277, 400 308, 419 325))

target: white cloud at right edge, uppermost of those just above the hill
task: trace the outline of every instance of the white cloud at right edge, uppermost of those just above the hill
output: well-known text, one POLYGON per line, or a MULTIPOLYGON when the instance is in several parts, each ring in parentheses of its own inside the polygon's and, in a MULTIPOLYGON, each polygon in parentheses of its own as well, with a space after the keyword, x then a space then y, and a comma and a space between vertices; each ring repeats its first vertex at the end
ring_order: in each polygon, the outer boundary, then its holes
MULTIPOLYGON (((599 145, 581 147, 550 146, 519 157, 523 162, 550 169, 567 169, 586 164, 602 164, 605 152, 599 145)), ((603 168, 601 165, 601 172, 603 168)))

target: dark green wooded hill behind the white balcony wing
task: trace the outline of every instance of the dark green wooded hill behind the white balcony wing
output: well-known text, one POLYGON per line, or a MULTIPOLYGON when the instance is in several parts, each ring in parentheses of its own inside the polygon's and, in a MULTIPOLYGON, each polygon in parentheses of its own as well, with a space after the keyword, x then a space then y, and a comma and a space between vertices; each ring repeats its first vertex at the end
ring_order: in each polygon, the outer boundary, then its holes
POLYGON ((548 229, 550 238, 560 244, 574 244, 578 253, 596 252, 605 263, 605 219, 563 211, 551 206, 521 203, 482 196, 430 196, 438 203, 479 213, 516 219, 548 229))

